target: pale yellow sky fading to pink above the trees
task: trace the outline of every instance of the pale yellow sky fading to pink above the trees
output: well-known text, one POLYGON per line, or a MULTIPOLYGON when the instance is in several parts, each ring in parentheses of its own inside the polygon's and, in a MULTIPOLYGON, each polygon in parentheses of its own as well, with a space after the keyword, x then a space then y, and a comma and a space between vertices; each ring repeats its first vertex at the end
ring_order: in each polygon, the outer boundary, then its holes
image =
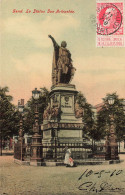
POLYGON ((125 48, 96 47, 95 0, 1 0, 0 86, 13 103, 31 97, 34 88, 52 86, 53 45, 65 40, 76 73, 71 84, 96 105, 107 93, 125 98, 125 48), (13 13, 13 10, 22 13, 13 13), (30 13, 25 13, 29 9, 30 13), (33 13, 34 9, 45 13, 33 13), (47 13, 71 10, 74 13, 47 13))

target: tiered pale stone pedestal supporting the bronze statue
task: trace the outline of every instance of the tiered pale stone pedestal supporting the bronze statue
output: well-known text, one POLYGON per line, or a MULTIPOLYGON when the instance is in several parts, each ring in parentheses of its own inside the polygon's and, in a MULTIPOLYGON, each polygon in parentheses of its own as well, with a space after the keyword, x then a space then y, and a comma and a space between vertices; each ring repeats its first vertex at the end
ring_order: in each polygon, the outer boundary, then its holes
POLYGON ((75 97, 78 92, 75 85, 58 84, 51 88, 50 104, 44 112, 42 143, 54 143, 55 131, 57 143, 82 142, 82 118, 75 116, 75 97))

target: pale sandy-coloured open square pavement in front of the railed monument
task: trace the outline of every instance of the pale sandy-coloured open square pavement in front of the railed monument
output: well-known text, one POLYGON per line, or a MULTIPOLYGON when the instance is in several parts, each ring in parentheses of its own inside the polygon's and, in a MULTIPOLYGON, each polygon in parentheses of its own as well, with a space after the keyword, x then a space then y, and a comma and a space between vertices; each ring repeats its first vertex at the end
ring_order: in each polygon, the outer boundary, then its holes
MULTIPOLYGON (((125 155, 120 158, 125 160, 125 155)), ((33 167, 15 164, 13 156, 0 157, 0 195, 124 195, 124 188, 125 161, 74 168, 33 167)))

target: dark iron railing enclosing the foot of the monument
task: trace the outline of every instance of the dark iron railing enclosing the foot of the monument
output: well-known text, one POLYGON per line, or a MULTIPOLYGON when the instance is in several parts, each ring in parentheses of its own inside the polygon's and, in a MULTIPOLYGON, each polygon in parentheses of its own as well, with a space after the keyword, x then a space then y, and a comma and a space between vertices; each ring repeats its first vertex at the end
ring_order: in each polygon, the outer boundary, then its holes
MULTIPOLYGON (((44 143, 41 145, 41 158, 43 161, 61 162, 65 158, 66 147, 71 150, 74 160, 96 160, 105 158, 105 146, 98 145, 93 151, 92 145, 85 143, 44 143)), ((30 161, 31 143, 14 144, 14 158, 22 161, 30 161)))

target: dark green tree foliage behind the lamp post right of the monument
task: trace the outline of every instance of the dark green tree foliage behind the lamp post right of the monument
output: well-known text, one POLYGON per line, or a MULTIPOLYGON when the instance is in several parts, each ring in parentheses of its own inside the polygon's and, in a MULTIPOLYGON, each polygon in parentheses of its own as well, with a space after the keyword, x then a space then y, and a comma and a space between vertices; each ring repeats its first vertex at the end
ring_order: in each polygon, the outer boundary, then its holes
POLYGON ((119 99, 116 93, 107 94, 103 99, 102 109, 98 112, 97 115, 97 126, 98 131, 101 132, 102 137, 104 137, 107 132, 109 132, 110 127, 110 117, 109 115, 113 114, 114 125, 116 130, 117 139, 123 140, 123 135, 125 134, 125 114, 123 109, 123 99, 119 99), (114 104, 109 105, 108 98, 113 96, 114 104))

